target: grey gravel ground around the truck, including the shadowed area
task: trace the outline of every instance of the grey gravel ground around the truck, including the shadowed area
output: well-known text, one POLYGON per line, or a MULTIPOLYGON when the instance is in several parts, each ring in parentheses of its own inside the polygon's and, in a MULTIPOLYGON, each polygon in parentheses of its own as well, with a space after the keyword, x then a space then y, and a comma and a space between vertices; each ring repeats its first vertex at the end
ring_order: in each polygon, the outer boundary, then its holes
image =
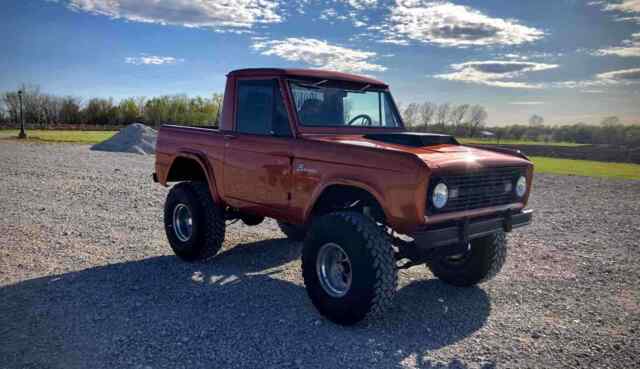
POLYGON ((640 182, 538 175, 505 269, 454 288, 401 271, 384 320, 320 317, 301 244, 235 224, 189 264, 153 157, 0 141, 2 368, 638 367, 640 182))

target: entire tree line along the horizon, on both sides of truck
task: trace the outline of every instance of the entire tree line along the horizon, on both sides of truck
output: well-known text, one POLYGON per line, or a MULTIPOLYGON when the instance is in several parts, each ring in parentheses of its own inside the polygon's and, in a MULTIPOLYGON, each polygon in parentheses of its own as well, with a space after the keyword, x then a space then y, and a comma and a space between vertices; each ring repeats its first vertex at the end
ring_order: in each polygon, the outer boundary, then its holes
MULTIPOLYGON (((115 127, 142 122, 157 127, 163 123, 217 126, 222 94, 210 97, 171 95, 129 97, 115 102, 112 98, 82 100, 74 96, 57 96, 40 91, 37 86, 21 87, 24 120, 29 127, 53 126, 115 127)), ((598 125, 577 123, 545 125, 534 114, 528 125, 486 127, 489 115, 481 105, 432 102, 400 105, 403 120, 410 130, 447 133, 458 137, 489 137, 495 141, 529 140, 574 142, 640 147, 640 125, 623 125, 615 116, 598 125)), ((19 124, 18 91, 0 94, 0 124, 19 124)))

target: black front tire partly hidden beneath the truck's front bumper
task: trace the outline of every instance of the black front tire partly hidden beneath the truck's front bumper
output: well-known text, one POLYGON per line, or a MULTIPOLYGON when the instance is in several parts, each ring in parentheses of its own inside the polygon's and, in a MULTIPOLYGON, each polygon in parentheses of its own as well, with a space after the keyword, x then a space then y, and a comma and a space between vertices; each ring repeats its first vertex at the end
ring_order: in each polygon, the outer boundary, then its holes
POLYGON ((500 231, 471 240, 466 257, 452 264, 445 255, 437 255, 429 262, 431 272, 448 284, 469 287, 495 277, 507 259, 507 238, 500 231))

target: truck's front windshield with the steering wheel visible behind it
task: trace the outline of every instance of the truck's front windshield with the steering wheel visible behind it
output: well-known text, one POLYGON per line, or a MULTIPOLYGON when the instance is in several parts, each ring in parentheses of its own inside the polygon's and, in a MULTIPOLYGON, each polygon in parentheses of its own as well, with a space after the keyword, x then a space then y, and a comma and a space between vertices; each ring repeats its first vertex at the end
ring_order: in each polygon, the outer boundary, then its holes
POLYGON ((399 127, 386 91, 347 90, 291 82, 298 119, 314 127, 399 127))

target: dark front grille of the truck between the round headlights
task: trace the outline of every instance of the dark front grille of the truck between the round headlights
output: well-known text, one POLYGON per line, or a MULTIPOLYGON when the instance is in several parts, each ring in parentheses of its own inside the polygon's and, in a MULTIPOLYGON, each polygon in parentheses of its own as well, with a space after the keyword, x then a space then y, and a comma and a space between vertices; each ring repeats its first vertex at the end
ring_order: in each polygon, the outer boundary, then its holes
POLYGON ((428 213, 471 210, 516 202, 515 184, 518 177, 524 174, 525 168, 506 167, 435 176, 429 186, 428 213), (431 194, 441 181, 449 188, 449 200, 444 208, 436 209, 431 205, 431 194))

